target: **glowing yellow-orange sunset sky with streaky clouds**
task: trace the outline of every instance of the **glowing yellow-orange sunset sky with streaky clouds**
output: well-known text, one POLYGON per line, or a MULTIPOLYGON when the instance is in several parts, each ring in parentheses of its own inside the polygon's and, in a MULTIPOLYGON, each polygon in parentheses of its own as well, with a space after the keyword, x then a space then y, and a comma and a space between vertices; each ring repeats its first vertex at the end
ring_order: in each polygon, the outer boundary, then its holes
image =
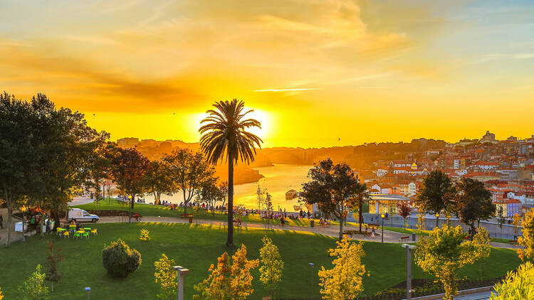
POLYGON ((264 146, 534 134, 533 1, 2 1, 0 90, 112 139, 198 141, 239 98, 264 146), (439 3, 437 3, 439 2, 439 3))

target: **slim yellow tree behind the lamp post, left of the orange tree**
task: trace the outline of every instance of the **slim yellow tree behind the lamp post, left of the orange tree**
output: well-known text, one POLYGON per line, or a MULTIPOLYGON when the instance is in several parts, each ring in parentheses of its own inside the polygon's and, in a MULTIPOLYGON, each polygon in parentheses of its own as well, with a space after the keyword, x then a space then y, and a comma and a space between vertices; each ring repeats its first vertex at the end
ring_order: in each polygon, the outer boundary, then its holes
POLYGON ((169 257, 164 254, 162 254, 162 258, 154 263, 154 266, 156 267, 154 277, 156 277, 156 283, 159 282, 159 289, 161 290, 159 294, 157 294, 159 299, 172 300, 175 298, 178 287, 178 272, 172 269, 174 265, 174 259, 169 259, 169 257))

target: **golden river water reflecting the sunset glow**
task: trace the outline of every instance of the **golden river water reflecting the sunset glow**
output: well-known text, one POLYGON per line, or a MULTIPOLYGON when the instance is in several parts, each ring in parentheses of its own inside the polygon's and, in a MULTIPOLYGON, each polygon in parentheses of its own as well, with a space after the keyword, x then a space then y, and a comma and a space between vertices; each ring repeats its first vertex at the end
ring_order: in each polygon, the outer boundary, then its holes
MULTIPOLYGON (((311 166, 276 164, 274 166, 266 166, 261 168, 254 168, 258 170, 263 176, 257 183, 244 183, 234 186, 234 205, 245 205, 246 208, 258 208, 258 198, 256 191, 258 184, 261 189, 265 188, 267 193, 271 194, 273 200, 273 208, 286 209, 286 211, 295 211, 294 205, 298 205, 298 198, 293 200, 286 200, 286 192, 293 189, 300 191, 302 183, 308 181, 306 176, 311 166)), ((151 195, 145 197, 147 203, 154 202, 151 195)), ((174 195, 162 195, 162 200, 167 200, 171 203, 180 203, 183 201, 182 193, 174 195)))

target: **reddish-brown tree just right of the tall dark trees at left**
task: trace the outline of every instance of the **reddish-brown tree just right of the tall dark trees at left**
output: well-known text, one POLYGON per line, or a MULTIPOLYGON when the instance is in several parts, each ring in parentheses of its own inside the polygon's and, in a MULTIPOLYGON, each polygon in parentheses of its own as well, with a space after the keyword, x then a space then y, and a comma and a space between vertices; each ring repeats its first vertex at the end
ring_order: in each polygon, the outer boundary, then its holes
POLYGON ((110 148, 108 156, 112 164, 113 181, 122 193, 130 195, 128 221, 131 223, 135 195, 141 195, 146 189, 145 174, 150 168, 150 162, 137 149, 122 149, 115 145, 110 145, 110 148))

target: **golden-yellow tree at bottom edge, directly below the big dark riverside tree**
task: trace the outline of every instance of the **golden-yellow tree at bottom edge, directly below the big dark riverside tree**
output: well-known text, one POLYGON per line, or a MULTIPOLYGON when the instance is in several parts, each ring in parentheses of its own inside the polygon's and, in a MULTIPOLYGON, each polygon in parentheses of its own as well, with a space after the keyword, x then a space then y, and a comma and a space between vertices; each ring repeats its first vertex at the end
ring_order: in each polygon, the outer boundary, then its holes
POLYGON ((328 250, 335 257, 332 269, 321 266, 319 271, 320 293, 325 300, 355 299, 363 291, 362 277, 365 265, 362 264, 364 242, 337 241, 335 249, 328 250))

